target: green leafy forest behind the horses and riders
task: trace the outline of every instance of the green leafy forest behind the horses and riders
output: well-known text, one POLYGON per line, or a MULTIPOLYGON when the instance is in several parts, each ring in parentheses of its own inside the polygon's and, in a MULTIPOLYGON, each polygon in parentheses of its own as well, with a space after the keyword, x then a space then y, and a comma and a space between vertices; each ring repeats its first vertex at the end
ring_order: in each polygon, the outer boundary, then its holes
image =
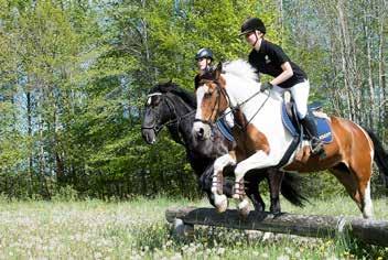
MULTIPOLYGON (((0 192, 9 197, 198 196, 182 147, 147 145, 148 90, 193 91, 194 55, 247 58, 248 17, 308 73, 311 101, 388 143, 387 0, 0 0, 0 192)), ((324 174, 310 196, 343 192, 324 174)), ((386 193, 376 172, 375 194, 386 193)))

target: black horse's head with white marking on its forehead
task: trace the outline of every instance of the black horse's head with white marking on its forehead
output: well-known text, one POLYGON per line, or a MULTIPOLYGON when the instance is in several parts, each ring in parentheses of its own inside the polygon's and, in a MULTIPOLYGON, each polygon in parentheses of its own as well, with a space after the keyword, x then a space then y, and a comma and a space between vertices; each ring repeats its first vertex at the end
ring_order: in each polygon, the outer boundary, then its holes
POLYGON ((152 144, 163 126, 172 119, 173 104, 169 101, 168 93, 175 85, 172 82, 158 84, 147 96, 141 133, 146 142, 152 144))

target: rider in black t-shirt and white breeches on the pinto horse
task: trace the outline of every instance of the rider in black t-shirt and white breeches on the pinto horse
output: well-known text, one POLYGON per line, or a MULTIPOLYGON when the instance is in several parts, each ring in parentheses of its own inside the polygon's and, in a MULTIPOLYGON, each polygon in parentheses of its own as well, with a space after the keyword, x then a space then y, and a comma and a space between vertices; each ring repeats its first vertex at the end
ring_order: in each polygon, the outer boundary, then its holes
POLYGON ((297 105, 298 116, 311 137, 312 153, 324 152, 322 141, 317 137, 314 120, 308 112, 310 83, 306 74, 285 55, 283 50, 265 40, 266 26, 258 18, 250 18, 241 25, 240 35, 252 46, 249 63, 258 73, 273 77, 270 83, 261 85, 262 89, 273 88, 282 94, 289 90, 297 105))

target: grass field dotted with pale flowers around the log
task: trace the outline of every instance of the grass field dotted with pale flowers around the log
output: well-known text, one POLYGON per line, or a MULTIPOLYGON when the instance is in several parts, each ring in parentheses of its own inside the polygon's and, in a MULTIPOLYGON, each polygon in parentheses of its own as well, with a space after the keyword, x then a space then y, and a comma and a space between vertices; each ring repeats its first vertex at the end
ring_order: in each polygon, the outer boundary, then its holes
MULTIPOLYGON (((376 219, 388 219, 388 199, 374 201, 376 219)), ((131 202, 0 202, 0 259, 387 259, 388 248, 348 239, 287 236, 251 238, 223 228, 197 228, 195 239, 170 235, 170 206, 207 206, 165 197, 131 202)), ((305 208, 282 199, 283 210, 359 216, 347 197, 313 201, 305 208)))

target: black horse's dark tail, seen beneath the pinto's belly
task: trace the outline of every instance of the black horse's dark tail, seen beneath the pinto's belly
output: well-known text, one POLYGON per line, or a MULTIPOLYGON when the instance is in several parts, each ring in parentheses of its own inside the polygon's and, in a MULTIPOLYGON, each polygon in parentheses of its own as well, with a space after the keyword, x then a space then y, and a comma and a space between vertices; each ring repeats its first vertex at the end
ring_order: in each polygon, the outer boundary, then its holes
POLYGON ((281 183, 281 195, 284 196, 292 205, 304 207, 304 203, 308 203, 309 199, 304 197, 301 193, 300 186, 302 178, 295 174, 284 173, 283 181, 281 183))

